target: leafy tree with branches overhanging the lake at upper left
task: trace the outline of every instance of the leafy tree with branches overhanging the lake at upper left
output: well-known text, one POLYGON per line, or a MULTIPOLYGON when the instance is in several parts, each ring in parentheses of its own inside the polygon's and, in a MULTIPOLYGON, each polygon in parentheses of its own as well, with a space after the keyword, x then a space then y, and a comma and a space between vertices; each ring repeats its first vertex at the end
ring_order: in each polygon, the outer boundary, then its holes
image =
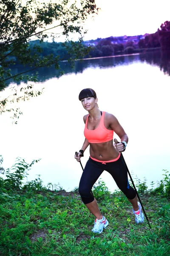
MULTIPOLYGON (((37 81, 37 76, 28 76, 26 73, 38 67, 51 67, 54 64, 56 69, 60 69, 59 61, 64 56, 54 56, 52 51, 48 55, 42 54, 41 46, 48 38, 55 41, 59 35, 65 36, 62 47, 67 51, 62 52, 66 52, 71 64, 86 55, 90 48, 82 45, 82 36, 86 32, 83 24, 89 15, 93 16, 97 12, 95 0, 0 1, 0 90, 6 87, 9 79, 14 82, 37 81), (78 42, 68 41, 68 36, 73 33, 79 35, 78 42), (31 44, 33 39, 39 39, 40 44, 31 44), (10 68, 15 64, 28 68, 25 72, 12 75, 10 68)), ((61 47, 58 52, 61 52, 61 47)), ((40 94, 40 91, 34 92, 33 85, 21 88, 20 92, 15 89, 11 98, 0 100, 0 112, 13 111, 12 107, 6 108, 6 105, 40 94)), ((21 112, 18 109, 16 111, 14 115, 20 115, 21 112)))

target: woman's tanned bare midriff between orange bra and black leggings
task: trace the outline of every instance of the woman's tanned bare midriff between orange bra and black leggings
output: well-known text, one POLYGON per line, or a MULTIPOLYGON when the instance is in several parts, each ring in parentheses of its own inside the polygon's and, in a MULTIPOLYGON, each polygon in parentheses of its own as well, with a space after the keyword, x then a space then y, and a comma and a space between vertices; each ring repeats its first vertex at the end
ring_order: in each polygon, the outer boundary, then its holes
POLYGON ((119 156, 119 151, 113 146, 113 140, 104 143, 90 143, 90 156, 101 161, 110 161, 119 156))

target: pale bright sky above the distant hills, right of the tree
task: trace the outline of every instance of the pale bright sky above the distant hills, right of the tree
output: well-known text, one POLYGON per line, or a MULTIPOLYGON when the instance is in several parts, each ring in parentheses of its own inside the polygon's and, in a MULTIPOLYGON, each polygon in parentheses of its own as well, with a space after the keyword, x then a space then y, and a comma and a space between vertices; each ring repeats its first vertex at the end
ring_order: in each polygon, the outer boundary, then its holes
MULTIPOLYGON (((101 10, 88 18, 84 40, 121 35, 154 33, 170 20, 170 0, 96 0, 101 10)), ((73 37, 75 39, 76 36, 73 37)), ((58 40, 57 40, 58 41, 58 40)))

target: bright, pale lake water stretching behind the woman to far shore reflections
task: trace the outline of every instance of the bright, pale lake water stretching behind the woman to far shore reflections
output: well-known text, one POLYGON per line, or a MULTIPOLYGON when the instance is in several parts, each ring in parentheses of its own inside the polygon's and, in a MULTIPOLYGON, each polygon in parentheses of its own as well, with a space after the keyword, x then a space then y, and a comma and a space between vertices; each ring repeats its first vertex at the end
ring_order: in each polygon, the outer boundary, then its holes
MULTIPOLYGON (((12 125, 8 114, 0 116, 5 169, 16 157, 28 162, 41 158, 29 171, 28 180, 41 175, 45 185, 59 183, 67 191, 77 187, 82 169, 74 153, 84 142, 83 116, 87 113, 78 95, 91 87, 99 109, 113 113, 129 137, 123 155, 133 177, 146 177, 148 186, 160 181, 162 169, 170 171, 170 58, 163 57, 154 52, 85 60, 76 62, 74 70, 64 62, 61 77, 54 68, 41 69, 35 87, 45 87, 44 93, 18 104, 23 111, 18 124, 12 125)), ((13 72, 18 70, 22 68, 13 72)), ((8 92, 6 88, 0 96, 8 92)), ((114 138, 119 140, 116 134, 114 138)), ((87 148, 83 166, 88 157, 87 148)), ((101 178, 111 191, 116 189, 107 172, 101 178)))

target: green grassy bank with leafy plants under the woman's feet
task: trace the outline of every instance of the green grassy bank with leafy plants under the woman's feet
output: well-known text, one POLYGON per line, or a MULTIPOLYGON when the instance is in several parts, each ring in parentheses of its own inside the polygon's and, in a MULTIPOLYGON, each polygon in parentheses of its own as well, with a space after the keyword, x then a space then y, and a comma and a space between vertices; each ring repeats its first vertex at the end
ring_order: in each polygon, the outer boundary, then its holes
POLYGON ((111 193, 99 180, 93 193, 109 225, 101 234, 91 228, 94 216, 82 204, 77 188, 65 192, 40 177, 24 182, 30 164, 18 158, 0 178, 0 255, 3 256, 169 256, 170 174, 151 189, 135 178, 136 188, 149 218, 136 225, 127 198, 111 193))

